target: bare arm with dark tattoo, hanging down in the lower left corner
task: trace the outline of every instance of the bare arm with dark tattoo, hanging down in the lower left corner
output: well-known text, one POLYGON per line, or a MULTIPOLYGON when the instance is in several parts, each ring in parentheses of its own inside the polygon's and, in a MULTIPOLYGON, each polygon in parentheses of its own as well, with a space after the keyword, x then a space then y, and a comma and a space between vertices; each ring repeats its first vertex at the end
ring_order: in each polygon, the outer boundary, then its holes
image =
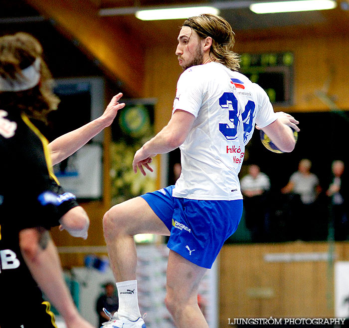
POLYGON ((48 231, 24 229, 19 233, 19 246, 31 275, 63 317, 68 328, 92 328, 80 317, 63 280, 57 249, 48 231))

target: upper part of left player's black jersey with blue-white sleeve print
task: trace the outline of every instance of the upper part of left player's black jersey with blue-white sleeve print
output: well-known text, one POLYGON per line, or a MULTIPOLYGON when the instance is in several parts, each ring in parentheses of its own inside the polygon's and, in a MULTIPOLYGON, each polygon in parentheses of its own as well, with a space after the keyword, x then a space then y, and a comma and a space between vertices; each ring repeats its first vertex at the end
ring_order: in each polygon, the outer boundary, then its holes
POLYGON ((59 186, 47 145, 25 114, 0 109, 0 217, 15 220, 18 230, 57 226, 78 205, 59 186))

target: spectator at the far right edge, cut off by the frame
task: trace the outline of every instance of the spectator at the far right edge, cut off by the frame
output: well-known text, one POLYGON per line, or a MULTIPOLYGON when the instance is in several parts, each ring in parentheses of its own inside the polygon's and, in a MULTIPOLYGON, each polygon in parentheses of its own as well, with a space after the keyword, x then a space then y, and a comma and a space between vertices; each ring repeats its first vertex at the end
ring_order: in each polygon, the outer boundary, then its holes
POLYGON ((333 181, 326 191, 331 198, 333 227, 335 228, 335 240, 348 238, 348 214, 346 204, 346 183, 344 177, 344 162, 336 160, 332 163, 333 181))

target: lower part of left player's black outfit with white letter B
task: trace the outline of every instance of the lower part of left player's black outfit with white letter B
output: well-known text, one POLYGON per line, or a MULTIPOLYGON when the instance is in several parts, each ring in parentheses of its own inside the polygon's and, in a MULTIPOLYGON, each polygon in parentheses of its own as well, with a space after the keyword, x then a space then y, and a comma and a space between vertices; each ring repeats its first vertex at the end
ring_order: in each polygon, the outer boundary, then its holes
POLYGON ((56 328, 49 303, 21 255, 16 218, 0 221, 0 327, 56 328))

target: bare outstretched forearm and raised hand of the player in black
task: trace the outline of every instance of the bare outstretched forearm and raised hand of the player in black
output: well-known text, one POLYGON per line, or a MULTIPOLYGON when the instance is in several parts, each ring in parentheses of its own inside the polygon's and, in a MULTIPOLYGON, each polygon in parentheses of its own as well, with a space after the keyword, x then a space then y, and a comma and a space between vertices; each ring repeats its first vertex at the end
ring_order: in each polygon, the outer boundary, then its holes
POLYGON ((74 154, 104 128, 112 124, 118 110, 125 107, 124 103, 119 103, 121 97, 122 93, 114 96, 100 117, 50 142, 48 147, 52 164, 55 165, 74 154))

